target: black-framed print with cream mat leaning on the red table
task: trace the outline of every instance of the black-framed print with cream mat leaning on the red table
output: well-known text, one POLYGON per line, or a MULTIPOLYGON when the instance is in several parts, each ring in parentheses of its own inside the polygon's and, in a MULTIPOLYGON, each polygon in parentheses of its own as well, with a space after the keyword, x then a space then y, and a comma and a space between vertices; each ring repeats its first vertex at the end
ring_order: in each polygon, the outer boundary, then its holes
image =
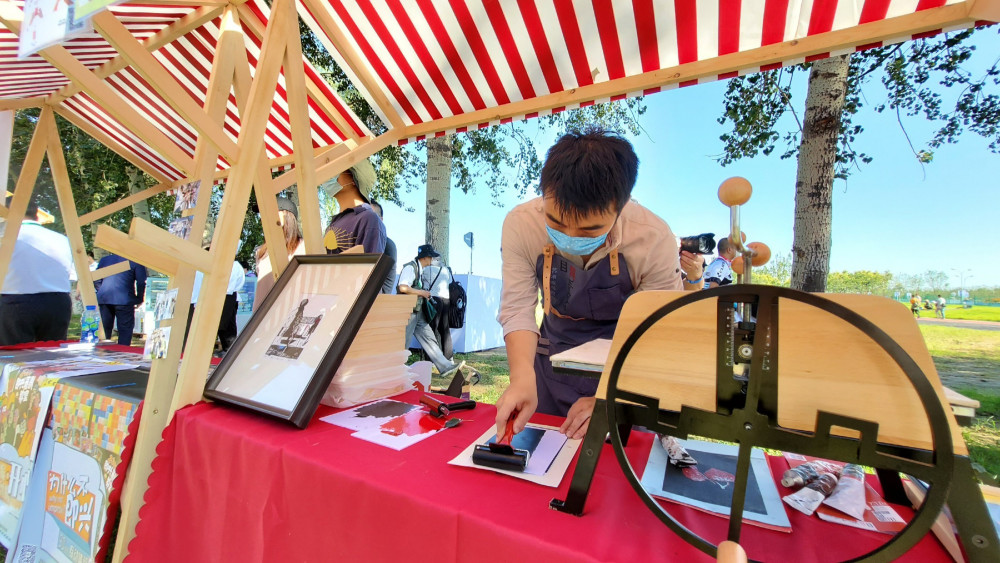
POLYGON ((205 386, 205 397, 304 428, 389 271, 382 254, 293 257, 205 386))

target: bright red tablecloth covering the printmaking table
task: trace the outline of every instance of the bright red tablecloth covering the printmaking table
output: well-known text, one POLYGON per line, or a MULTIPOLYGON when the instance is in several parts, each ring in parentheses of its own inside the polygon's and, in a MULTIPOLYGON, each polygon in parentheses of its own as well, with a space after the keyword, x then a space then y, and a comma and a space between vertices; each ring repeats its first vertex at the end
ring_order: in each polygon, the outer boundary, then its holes
MULTIPOLYGON (((316 418, 331 412, 321 406, 316 418)), ((573 466, 553 489, 448 465, 493 424, 495 409, 459 414, 465 423, 397 452, 316 418, 297 430, 217 404, 183 409, 164 432, 129 561, 711 560, 642 504, 610 446, 580 518, 548 508, 565 498, 573 466)), ((640 471, 650 440, 633 433, 627 447, 640 471)), ((787 468, 781 458, 771 465, 787 468)), ((724 539, 725 519, 671 511, 703 537, 724 539)), ((843 560, 887 538, 788 513, 792 534, 744 526, 751 557, 843 560)), ((931 536, 907 559, 948 560, 931 536)))

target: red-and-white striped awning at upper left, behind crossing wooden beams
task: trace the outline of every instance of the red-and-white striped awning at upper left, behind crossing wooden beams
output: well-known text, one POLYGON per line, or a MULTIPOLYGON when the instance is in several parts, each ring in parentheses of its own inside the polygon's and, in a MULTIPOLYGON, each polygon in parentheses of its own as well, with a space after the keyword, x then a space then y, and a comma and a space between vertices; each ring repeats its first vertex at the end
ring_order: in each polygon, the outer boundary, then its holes
MULTIPOLYGON (((250 18, 257 22, 243 22, 246 36, 247 58, 255 67, 260 54, 261 31, 267 23, 268 9, 260 0, 247 3, 250 18), (259 25, 253 25, 259 23, 259 25)), ((152 37, 157 32, 190 14, 195 8, 179 6, 123 5, 111 10, 126 28, 139 40, 152 37)), ((212 59, 218 41, 220 20, 207 21, 190 32, 156 49, 155 58, 177 79, 183 90, 199 105, 206 99, 212 59)), ((17 36, 8 30, 0 32, 0 98, 28 98, 48 96, 69 84, 58 69, 38 55, 17 61, 17 36)), ((91 69, 117 56, 115 49, 101 36, 95 34, 68 41, 66 49, 91 69)), ((306 80, 309 82, 309 117, 312 127, 313 148, 336 145, 346 139, 370 135, 368 129, 351 112, 347 105, 329 87, 319 72, 303 60, 306 80)), ((251 70, 251 76, 253 71, 251 70)), ((194 156, 198 141, 197 131, 185 121, 154 89, 143 76, 131 67, 125 67, 105 78, 105 82, 121 97, 123 103, 136 109, 145 119, 166 135, 181 152, 194 156)), ((147 165, 147 171, 166 180, 179 180, 188 174, 178 169, 167 158, 122 125, 106 108, 84 92, 78 92, 62 102, 62 110, 69 117, 79 118, 87 126, 107 136, 111 148, 128 153, 147 165)), ((236 141, 240 129, 236 100, 230 95, 224 130, 236 141)), ((280 162, 284 168, 291 162, 292 137, 289 124, 288 102, 284 73, 279 78, 278 89, 271 107, 265 134, 265 152, 268 159, 280 162)), ((220 158, 218 169, 225 170, 229 163, 220 158)))

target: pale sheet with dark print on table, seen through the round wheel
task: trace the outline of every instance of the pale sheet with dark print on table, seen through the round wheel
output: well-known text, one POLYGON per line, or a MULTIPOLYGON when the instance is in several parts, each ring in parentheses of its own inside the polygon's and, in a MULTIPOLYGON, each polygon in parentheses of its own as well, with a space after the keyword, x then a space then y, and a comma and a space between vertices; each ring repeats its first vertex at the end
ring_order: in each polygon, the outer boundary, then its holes
MULTIPOLYGON (((653 440, 649 461, 642 472, 643 488, 654 497, 728 517, 739 447, 701 440, 678 442, 697 460, 697 465, 678 467, 670 464, 660 440, 653 440)), ((792 531, 767 458, 760 449, 750 454, 743 522, 781 532, 792 531)))

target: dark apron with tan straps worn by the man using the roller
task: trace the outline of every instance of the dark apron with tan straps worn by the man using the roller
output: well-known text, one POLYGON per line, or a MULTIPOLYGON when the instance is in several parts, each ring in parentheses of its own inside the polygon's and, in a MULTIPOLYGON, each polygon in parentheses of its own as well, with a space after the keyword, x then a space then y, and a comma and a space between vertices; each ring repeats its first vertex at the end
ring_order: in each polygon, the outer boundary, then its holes
POLYGON ((635 288, 618 250, 585 270, 549 244, 538 257, 535 275, 545 309, 535 355, 538 412, 566 416, 577 399, 594 396, 598 380, 555 373, 549 356, 596 338, 611 338, 635 288))

